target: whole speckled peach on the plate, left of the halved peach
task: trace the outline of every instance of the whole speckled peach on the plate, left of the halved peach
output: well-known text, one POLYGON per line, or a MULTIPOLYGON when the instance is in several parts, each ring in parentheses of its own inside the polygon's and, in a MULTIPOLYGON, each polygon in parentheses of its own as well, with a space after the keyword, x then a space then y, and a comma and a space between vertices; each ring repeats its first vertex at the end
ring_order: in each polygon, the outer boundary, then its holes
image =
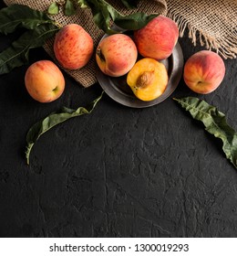
POLYGON ((99 69, 111 77, 120 77, 129 72, 138 58, 133 40, 124 34, 104 37, 98 44, 96 59, 99 69))

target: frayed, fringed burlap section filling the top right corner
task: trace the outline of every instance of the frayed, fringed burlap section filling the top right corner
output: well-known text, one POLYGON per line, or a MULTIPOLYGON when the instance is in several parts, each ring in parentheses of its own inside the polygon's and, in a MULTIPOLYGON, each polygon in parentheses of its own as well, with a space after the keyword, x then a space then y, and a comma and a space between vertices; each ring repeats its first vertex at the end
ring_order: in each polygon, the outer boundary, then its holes
POLYGON ((167 0, 168 14, 187 29, 194 45, 200 43, 224 59, 237 56, 237 0, 167 0))

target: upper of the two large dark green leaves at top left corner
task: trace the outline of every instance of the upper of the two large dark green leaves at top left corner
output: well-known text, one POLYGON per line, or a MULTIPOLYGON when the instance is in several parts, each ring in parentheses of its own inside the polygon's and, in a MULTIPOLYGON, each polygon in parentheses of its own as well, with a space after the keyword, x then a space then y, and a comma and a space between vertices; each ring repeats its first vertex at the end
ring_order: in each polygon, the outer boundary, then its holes
POLYGON ((5 35, 14 32, 17 27, 34 29, 46 23, 53 23, 46 13, 26 5, 9 5, 0 10, 0 32, 5 35))

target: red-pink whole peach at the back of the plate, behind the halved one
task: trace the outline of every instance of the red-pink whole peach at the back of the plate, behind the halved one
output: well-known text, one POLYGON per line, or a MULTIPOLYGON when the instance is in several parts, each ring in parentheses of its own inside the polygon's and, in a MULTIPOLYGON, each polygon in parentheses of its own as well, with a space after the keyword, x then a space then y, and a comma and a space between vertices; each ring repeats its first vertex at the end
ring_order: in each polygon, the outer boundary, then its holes
POLYGON ((149 23, 134 31, 139 54, 152 59, 167 59, 179 38, 177 24, 166 16, 157 16, 149 23))

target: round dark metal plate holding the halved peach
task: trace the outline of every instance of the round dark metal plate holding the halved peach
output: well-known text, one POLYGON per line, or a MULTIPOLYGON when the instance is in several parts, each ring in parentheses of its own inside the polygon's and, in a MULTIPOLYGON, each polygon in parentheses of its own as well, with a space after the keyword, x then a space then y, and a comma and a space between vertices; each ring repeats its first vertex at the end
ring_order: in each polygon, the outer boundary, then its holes
MULTIPOLYGON (((104 37, 108 36, 105 35, 104 37)), ((102 39, 104 37, 102 37, 102 39)), ((132 108, 146 108, 164 101, 177 88, 183 69, 183 55, 179 42, 177 42, 170 57, 160 60, 160 62, 162 62, 168 70, 169 82, 164 93, 153 101, 141 101, 133 94, 126 81, 127 74, 118 78, 109 77, 97 66, 96 77, 102 89, 114 101, 132 108)))

